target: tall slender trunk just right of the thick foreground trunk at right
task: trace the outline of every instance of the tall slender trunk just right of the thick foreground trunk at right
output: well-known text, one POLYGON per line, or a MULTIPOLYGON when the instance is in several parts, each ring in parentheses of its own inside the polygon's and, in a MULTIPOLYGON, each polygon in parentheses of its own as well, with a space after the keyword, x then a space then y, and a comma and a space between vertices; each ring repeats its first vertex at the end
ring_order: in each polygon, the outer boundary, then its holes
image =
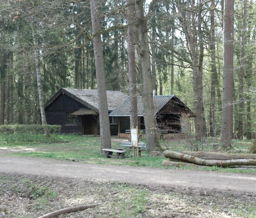
POLYGON ((247 16, 247 0, 244 1, 244 12, 241 32, 241 59, 240 59, 240 71, 239 71, 239 87, 238 87, 238 132, 237 138, 243 138, 243 113, 244 113, 244 71, 245 71, 245 28, 246 28, 246 16, 247 16))

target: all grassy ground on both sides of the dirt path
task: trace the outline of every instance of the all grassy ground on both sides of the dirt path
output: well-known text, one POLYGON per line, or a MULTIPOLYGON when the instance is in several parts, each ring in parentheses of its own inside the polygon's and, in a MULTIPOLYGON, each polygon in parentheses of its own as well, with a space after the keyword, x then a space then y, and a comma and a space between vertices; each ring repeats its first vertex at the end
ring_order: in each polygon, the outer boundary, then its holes
MULTIPOLYGON (((119 147, 124 139, 112 137, 112 148, 119 147)), ((125 159, 106 158, 100 153, 99 137, 60 135, 53 143, 13 142, 0 143, 3 155, 17 157, 54 158, 57 160, 93 163, 129 165, 140 167, 163 167, 165 157, 133 158, 128 152, 125 159)), ((166 144, 161 141, 162 147, 166 144)), ((230 152, 249 151, 250 141, 233 140, 230 152)), ((191 150, 189 140, 170 140, 168 148, 173 151, 191 150)), ((204 146, 204 151, 213 151, 213 147, 204 146)), ((245 172, 219 167, 200 168, 198 170, 245 172)), ((255 170, 246 171, 256 173, 255 170)), ((255 196, 245 193, 222 193, 197 189, 149 188, 127 183, 98 183, 69 178, 52 179, 28 175, 0 175, 0 218, 35 218, 60 208, 85 203, 99 203, 100 206, 84 212, 70 214, 70 217, 115 217, 115 218, 256 218, 255 196)), ((61 215, 60 218, 69 217, 61 215)))

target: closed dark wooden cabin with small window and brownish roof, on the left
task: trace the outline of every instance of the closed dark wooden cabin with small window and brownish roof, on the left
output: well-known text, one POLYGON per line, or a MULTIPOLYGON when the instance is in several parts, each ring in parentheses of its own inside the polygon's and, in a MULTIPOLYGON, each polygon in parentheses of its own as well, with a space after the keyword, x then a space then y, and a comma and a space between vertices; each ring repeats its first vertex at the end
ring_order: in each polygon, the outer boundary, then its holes
MULTIPOLYGON (((108 112, 123 103, 128 96, 121 91, 107 91, 108 112)), ((61 125, 61 133, 97 135, 99 106, 97 90, 61 88, 44 106, 48 124, 61 125)), ((118 124, 110 118, 110 131, 117 135, 118 124)))

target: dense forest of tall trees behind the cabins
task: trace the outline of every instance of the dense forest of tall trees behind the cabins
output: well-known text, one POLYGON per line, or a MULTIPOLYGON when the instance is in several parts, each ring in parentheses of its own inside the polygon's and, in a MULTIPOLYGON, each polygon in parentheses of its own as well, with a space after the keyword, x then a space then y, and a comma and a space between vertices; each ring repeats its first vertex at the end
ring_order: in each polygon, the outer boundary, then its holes
MULTIPOLYGON (((238 139, 256 135, 255 3, 235 0, 232 13, 231 129, 238 139)), ((102 1, 99 13, 107 90, 127 94, 127 32, 137 22, 134 15, 127 21, 129 5, 125 0, 102 1)), ((153 0, 144 2, 144 9, 153 89, 158 95, 174 94, 191 108, 201 135, 219 136, 224 108, 224 0, 153 0)), ((89 1, 2 0, 0 125, 40 123, 40 101, 61 87, 97 89, 94 36, 89 1)), ((139 45, 135 31, 138 95, 143 86, 139 45)), ((197 125, 191 126, 198 132, 197 125)))

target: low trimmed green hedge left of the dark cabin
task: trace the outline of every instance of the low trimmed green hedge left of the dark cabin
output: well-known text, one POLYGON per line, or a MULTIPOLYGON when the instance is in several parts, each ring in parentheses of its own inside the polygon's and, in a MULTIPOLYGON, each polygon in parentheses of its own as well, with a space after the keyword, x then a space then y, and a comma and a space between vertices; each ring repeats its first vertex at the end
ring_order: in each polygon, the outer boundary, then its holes
POLYGON ((19 124, 1 125, 0 135, 8 142, 51 142, 58 141, 59 125, 19 124))

